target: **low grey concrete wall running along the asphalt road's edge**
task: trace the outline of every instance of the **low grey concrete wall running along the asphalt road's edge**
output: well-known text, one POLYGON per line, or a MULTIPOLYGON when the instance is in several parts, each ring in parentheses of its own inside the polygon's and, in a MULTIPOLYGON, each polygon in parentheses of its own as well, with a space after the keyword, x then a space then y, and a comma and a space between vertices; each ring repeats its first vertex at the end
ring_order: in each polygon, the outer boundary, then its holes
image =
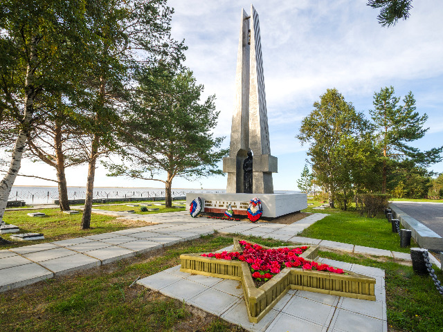
POLYGON ((440 237, 439 234, 400 210, 397 205, 390 203, 389 206, 392 212, 394 212, 395 218, 399 219, 401 225, 407 230, 412 231, 412 237, 421 248, 443 251, 443 238, 440 237))

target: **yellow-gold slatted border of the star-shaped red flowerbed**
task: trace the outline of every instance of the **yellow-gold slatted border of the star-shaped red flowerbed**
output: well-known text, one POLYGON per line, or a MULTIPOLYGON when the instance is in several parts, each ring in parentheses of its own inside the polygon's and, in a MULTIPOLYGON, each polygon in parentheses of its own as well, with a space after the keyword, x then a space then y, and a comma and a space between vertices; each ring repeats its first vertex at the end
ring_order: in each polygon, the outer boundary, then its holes
MULTIPOLYGON (((240 246, 239 241, 242 240, 234 239, 234 250, 229 252, 243 252, 244 248, 240 246)), ((247 242, 252 245, 257 244, 251 241, 247 242)), ((270 248, 260 246, 265 250, 300 247, 270 248)), ((314 260, 317 257, 317 252, 318 246, 309 246, 300 257, 314 260)), ((375 279, 365 275, 359 275, 346 270, 343 271, 343 274, 338 274, 317 270, 303 270, 302 268, 283 268, 280 273, 274 275, 272 279, 269 279, 269 281, 257 288, 255 287, 251 270, 245 261, 203 257, 201 256, 203 253, 180 255, 181 272, 233 279, 241 282, 249 321, 253 323, 260 322, 264 315, 290 289, 375 301, 375 279)), ((208 252, 205 253, 208 254, 208 252)))

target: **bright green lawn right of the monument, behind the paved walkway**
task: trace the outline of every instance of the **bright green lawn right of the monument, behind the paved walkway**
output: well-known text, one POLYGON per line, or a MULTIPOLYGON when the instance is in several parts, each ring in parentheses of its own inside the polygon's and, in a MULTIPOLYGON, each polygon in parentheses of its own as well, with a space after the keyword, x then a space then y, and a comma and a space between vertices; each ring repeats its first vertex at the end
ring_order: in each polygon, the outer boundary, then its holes
MULTIPOLYGON (((320 212, 329 214, 329 216, 316 221, 314 225, 306 228, 298 236, 392 251, 410 252, 409 248, 400 247, 399 235, 392 233, 391 224, 388 223, 384 215, 368 218, 360 216, 360 213, 355 210, 341 211, 331 208, 312 210, 313 207, 318 205, 321 205, 321 203, 315 202, 314 205, 303 210, 303 212, 320 212)), ((416 246, 413 239, 411 240, 411 245, 416 246)))

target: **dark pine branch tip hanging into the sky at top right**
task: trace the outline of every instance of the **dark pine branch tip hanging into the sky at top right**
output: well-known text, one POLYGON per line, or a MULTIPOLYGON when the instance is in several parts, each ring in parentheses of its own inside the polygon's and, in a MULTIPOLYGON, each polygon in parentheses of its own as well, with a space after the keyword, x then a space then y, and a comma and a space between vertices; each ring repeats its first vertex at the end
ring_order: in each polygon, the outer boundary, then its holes
POLYGON ((408 19, 409 10, 413 8, 413 0, 368 0, 367 5, 372 8, 381 8, 379 24, 381 26, 395 26, 399 19, 408 19))

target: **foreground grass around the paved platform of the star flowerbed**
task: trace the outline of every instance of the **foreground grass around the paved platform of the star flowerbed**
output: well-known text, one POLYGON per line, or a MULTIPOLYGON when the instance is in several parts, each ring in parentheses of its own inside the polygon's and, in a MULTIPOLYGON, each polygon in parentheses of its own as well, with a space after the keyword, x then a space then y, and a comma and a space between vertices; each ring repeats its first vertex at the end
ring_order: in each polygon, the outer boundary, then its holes
MULTIPOLYGON (((257 237, 244 239, 265 246, 282 245, 281 241, 257 237)), ((232 237, 213 234, 0 293, 1 331, 244 331, 143 286, 129 288, 139 276, 180 264, 182 253, 214 252, 232 243, 232 237)), ((320 257, 386 270, 390 331, 443 331, 443 301, 430 277, 418 277, 410 266, 392 259, 379 262, 333 252, 320 252, 320 257)), ((440 270, 437 276, 443 280, 440 270)))

